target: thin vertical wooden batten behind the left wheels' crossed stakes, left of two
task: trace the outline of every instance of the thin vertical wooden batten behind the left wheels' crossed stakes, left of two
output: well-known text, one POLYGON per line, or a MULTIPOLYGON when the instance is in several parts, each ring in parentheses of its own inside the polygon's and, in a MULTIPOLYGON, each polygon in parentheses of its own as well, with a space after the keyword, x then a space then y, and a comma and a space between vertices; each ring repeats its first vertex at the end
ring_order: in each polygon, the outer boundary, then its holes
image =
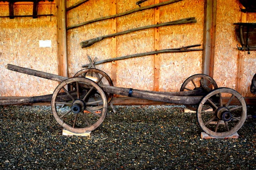
MULTIPOLYGON (((111 4, 111 15, 115 15, 116 14, 116 0, 112 0, 112 4, 111 4)), ((111 34, 115 34, 116 33, 116 18, 112 18, 112 30, 111 30, 111 34)), ((111 58, 115 58, 116 57, 116 37, 112 37, 111 39, 111 45, 112 45, 112 52, 111 52, 111 58)), ((116 86, 116 70, 117 70, 117 61, 113 61, 112 62, 112 73, 111 73, 111 78, 113 81, 114 86, 116 86)), ((115 95, 114 95, 115 96, 115 95)))

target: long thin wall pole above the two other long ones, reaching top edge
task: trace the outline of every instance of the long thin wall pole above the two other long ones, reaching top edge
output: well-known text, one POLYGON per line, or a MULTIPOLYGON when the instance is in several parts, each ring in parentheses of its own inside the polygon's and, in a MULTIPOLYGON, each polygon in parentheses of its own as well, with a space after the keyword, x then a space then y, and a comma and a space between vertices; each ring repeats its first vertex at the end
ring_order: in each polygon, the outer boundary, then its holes
POLYGON ((98 22, 98 21, 108 20, 108 19, 116 18, 116 17, 122 17, 122 16, 132 14, 132 13, 138 12, 138 11, 144 11, 144 10, 151 9, 151 8, 166 6, 166 5, 176 3, 176 2, 179 2, 179 1, 182 1, 182 0, 169 0, 169 1, 166 1, 166 2, 163 2, 163 3, 158 3, 158 4, 151 5, 151 6, 144 6, 144 7, 140 7, 140 8, 135 8, 135 9, 132 9, 130 11, 126 11, 126 12, 123 12, 123 13, 120 13, 120 14, 113 14, 113 15, 110 15, 110 16, 107 16, 107 17, 97 18, 95 20, 90 20, 90 21, 86 21, 86 22, 83 22, 83 23, 76 24, 74 26, 69 26, 69 27, 67 27, 67 30, 77 28, 77 27, 80 27, 80 26, 84 26, 84 25, 87 25, 87 24, 90 24, 90 23, 95 23, 95 22, 98 22))

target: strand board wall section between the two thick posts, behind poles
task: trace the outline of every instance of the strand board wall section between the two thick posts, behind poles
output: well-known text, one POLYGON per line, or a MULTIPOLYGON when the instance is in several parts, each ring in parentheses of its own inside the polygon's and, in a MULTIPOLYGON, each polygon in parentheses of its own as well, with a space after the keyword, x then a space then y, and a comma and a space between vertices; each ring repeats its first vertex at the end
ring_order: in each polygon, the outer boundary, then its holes
MULTIPOLYGON (((167 1, 162 0, 160 2, 167 1)), ((67 7, 77 1, 68 1, 67 7)), ((98 17, 110 15, 111 0, 90 0, 67 13, 68 26, 98 17)), ((117 0, 116 13, 122 13, 134 8, 137 0, 117 0)), ((141 4, 148 6, 154 0, 141 4)), ((160 10, 160 23, 196 17, 198 23, 181 26, 166 26, 159 28, 160 50, 177 48, 186 45, 202 44, 204 1, 183 0, 160 10), (197 8, 194 8, 197 6, 197 8), (196 38, 195 38, 196 37, 196 38)), ((154 24, 154 9, 140 11, 128 16, 116 18, 116 32, 154 24)), ((69 74, 73 75, 81 69, 82 64, 88 63, 87 55, 98 60, 111 58, 113 51, 116 57, 130 54, 154 51, 154 28, 133 32, 116 37, 116 48, 112 48, 111 38, 97 42, 81 49, 79 42, 102 35, 111 34, 111 20, 88 24, 68 31, 69 74), (103 48, 102 48, 103 47, 103 48)), ((160 59, 160 91, 179 91, 183 81, 192 74, 201 73, 202 52, 188 52, 176 54, 159 54, 160 59)), ((116 62, 116 86, 154 90, 154 55, 125 59, 116 62)), ((97 65, 106 73, 111 72, 111 63, 97 65)))

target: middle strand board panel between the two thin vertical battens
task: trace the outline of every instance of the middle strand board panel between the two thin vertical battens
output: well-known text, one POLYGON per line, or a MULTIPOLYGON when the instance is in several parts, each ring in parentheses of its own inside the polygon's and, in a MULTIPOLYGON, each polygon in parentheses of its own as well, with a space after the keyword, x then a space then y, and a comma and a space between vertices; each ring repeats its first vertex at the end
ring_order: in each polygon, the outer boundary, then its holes
MULTIPOLYGON (((117 13, 138 8, 136 2, 137 0, 131 0, 117 3, 117 13)), ((154 4, 154 1, 145 2, 142 6, 149 4, 154 4)), ((154 9, 119 17, 116 22, 117 32, 153 25, 154 9)), ((154 28, 117 36, 116 42, 117 57, 154 51, 154 28)), ((154 90, 154 55, 119 60, 116 71, 116 86, 154 90)))

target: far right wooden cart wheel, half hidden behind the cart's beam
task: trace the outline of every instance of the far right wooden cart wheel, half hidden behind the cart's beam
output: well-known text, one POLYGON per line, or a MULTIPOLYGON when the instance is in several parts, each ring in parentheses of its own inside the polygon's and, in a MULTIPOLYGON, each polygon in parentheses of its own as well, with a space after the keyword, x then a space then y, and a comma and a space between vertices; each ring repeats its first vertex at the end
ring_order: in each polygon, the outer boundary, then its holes
MULTIPOLYGON (((203 79, 207 81, 207 87, 209 88, 208 91, 218 88, 217 83, 215 82, 212 77, 207 76, 206 74, 195 74, 187 78, 183 84, 181 85, 180 91, 192 91, 202 88, 200 80, 203 79)), ((189 110, 196 111, 197 105, 185 105, 189 110)), ((207 110, 210 108, 209 106, 205 105, 203 110, 207 110)))

